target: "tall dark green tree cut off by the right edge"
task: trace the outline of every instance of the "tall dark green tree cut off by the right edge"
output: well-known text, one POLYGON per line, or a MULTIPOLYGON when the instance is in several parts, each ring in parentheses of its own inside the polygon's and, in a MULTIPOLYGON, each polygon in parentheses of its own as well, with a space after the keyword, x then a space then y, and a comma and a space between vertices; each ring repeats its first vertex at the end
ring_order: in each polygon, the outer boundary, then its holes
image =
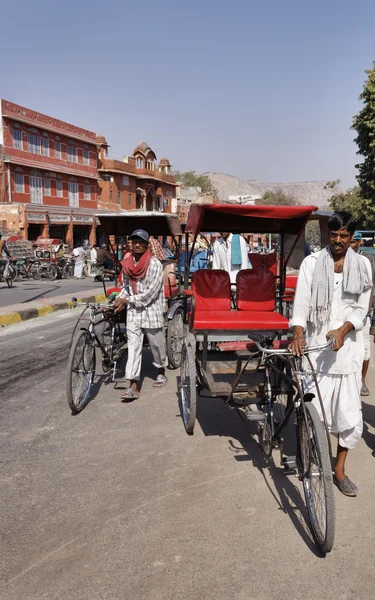
POLYGON ((363 108, 353 117, 352 129, 357 132, 355 142, 357 154, 363 156, 362 163, 356 165, 359 173, 357 181, 362 198, 375 202, 375 62, 373 68, 366 71, 368 78, 364 83, 359 99, 363 108))

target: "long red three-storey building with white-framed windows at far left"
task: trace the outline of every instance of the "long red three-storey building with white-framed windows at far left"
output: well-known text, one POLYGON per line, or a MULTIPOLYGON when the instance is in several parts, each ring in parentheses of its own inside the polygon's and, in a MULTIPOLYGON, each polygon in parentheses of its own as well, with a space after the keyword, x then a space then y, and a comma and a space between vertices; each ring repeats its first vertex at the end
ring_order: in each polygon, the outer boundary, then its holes
POLYGON ((94 243, 96 135, 0 100, 0 222, 25 239, 94 243))

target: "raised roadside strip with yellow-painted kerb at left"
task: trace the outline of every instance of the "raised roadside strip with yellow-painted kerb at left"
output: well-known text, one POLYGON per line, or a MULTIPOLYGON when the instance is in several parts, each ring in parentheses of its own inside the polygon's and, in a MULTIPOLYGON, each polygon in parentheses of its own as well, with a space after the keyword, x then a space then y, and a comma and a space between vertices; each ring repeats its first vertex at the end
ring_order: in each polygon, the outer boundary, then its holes
POLYGON ((21 321, 28 321, 36 317, 43 317, 57 310, 70 308, 73 304, 72 296, 82 302, 105 302, 104 293, 95 294, 93 290, 79 291, 76 294, 63 294, 52 296, 51 298, 42 298, 33 302, 11 304, 0 308, 0 326, 13 325, 21 321))

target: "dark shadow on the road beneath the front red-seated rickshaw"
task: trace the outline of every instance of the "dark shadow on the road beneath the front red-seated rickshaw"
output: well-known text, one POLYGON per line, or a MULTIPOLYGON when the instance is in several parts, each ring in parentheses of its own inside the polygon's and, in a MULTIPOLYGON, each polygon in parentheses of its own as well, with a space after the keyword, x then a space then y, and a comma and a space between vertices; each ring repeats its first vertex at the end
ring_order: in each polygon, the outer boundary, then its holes
MULTIPOLYGON (((229 449, 234 453, 235 460, 252 462, 262 474, 278 509, 288 515, 311 552, 318 558, 323 558, 324 554, 319 551, 311 535, 306 506, 300 490, 290 480, 291 476, 285 474, 283 468, 278 468, 272 458, 270 460, 265 458, 256 441, 255 424, 250 425, 245 422, 243 420, 245 417, 242 419, 235 409, 226 407, 221 399, 198 397, 197 400, 197 420, 203 433, 206 436, 232 438, 229 439, 229 449), (270 478, 273 486, 270 485, 270 478)), ((276 452, 278 450, 274 451, 275 458, 276 452)))

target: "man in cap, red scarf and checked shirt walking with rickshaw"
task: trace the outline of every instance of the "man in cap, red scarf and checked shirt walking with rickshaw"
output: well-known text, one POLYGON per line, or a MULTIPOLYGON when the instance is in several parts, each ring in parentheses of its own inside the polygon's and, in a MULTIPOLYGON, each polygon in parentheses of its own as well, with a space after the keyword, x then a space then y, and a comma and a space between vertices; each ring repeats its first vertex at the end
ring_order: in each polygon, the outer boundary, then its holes
POLYGON ((154 386, 160 387, 167 382, 163 266, 152 256, 148 248, 149 235, 144 229, 133 231, 129 239, 132 241, 132 252, 126 254, 121 261, 124 270, 123 288, 116 298, 116 312, 127 307, 128 360, 125 378, 129 381, 129 386, 122 394, 122 400, 139 398, 138 382, 145 333, 153 364, 158 369, 154 386))

